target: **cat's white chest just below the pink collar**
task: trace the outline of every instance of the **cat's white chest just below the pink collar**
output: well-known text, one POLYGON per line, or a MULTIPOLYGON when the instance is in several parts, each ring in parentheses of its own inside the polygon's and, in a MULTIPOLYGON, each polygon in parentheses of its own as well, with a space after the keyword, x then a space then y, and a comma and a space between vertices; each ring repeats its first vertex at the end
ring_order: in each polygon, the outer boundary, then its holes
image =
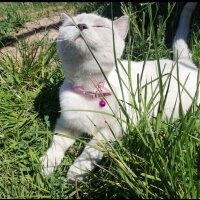
POLYGON ((62 118, 70 128, 80 128, 82 132, 88 131, 86 127, 94 128, 93 124, 99 128, 105 126, 103 118, 113 124, 113 119, 110 119, 108 114, 118 115, 117 101, 113 95, 106 97, 106 100, 102 106, 101 98, 90 99, 70 90, 62 91, 60 93, 62 118))

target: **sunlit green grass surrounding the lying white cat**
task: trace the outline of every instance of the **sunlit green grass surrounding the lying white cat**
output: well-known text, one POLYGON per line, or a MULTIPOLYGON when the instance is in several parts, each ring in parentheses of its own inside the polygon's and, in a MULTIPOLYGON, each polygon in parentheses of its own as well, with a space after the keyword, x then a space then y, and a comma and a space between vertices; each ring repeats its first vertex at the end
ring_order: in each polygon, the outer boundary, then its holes
MULTIPOLYGON (((121 4, 121 8, 131 16, 133 27, 124 57, 170 58, 166 27, 173 5, 168 4, 164 15, 157 3, 121 4)), ((174 24, 178 20, 177 16, 174 24)), ((194 17, 189 44, 200 67, 198 21, 194 17)), ((21 41, 20 56, 0 54, 0 198, 200 198, 200 119, 195 104, 176 121, 161 120, 162 107, 152 119, 138 108, 141 120, 136 126, 129 124, 121 141, 109 144, 112 151, 105 150, 88 181, 76 186, 66 178, 88 138, 69 149, 55 173, 41 174, 39 158, 52 141, 64 79, 56 45, 46 43, 46 38, 38 44, 21 41)), ((159 86, 162 92, 167 84, 159 86)))

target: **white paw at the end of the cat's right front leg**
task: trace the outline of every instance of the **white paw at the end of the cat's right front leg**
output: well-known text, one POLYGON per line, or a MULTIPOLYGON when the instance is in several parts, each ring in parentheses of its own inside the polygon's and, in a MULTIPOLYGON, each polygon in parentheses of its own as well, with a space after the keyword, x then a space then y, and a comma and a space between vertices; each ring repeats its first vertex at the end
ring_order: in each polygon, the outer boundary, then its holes
POLYGON ((75 179, 83 181, 89 178, 89 174, 86 171, 72 165, 67 172, 67 178, 72 182, 74 182, 75 179))

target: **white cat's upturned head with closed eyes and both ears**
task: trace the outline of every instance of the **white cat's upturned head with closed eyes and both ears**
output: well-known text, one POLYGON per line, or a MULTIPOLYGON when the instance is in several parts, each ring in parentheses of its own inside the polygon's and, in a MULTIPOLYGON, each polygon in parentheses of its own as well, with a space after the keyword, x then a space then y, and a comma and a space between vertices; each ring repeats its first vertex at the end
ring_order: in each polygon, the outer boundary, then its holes
MULTIPOLYGON (((101 65, 114 63, 112 21, 95 15, 82 13, 73 20, 84 35, 87 44, 101 65)), ((94 60, 79 29, 66 14, 61 14, 62 26, 57 39, 59 57, 64 62, 94 60)), ((128 33, 128 16, 113 22, 116 57, 122 56, 128 33)))

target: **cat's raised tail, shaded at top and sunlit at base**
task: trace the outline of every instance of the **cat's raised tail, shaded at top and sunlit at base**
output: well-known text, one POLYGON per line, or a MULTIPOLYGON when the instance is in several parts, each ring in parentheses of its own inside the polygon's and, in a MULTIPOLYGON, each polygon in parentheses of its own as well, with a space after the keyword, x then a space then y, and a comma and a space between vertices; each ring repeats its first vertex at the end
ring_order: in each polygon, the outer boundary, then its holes
POLYGON ((173 59, 190 60, 192 61, 192 54, 187 45, 187 36, 190 28, 191 15, 197 5, 197 2, 188 2, 185 4, 179 20, 178 29, 173 41, 173 59))

